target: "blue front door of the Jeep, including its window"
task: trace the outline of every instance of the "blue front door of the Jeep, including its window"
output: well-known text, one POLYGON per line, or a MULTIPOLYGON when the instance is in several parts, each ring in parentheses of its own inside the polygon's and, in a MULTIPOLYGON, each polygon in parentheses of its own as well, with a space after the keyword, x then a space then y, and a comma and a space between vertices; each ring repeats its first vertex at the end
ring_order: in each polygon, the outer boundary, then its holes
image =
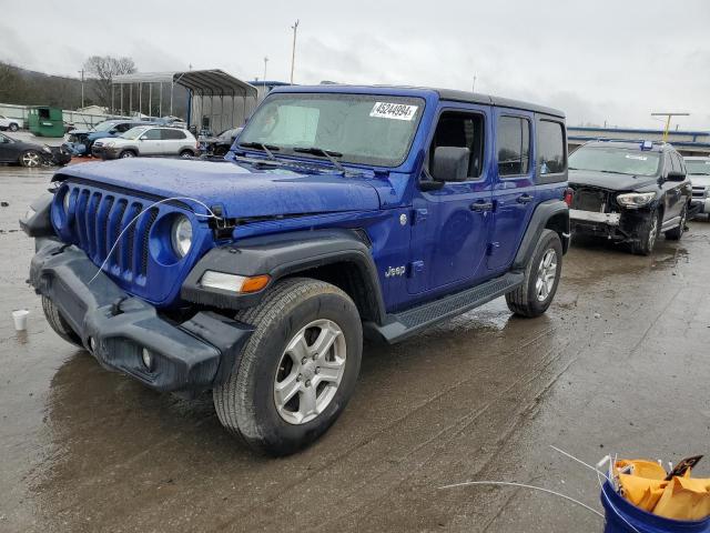
POLYGON ((485 275, 488 229, 491 219, 491 175, 488 150, 490 108, 447 103, 439 111, 432 135, 423 182, 437 147, 468 148, 468 180, 445 182, 423 190, 413 200, 412 263, 407 280, 410 294, 446 292, 448 286, 474 284, 485 275))

